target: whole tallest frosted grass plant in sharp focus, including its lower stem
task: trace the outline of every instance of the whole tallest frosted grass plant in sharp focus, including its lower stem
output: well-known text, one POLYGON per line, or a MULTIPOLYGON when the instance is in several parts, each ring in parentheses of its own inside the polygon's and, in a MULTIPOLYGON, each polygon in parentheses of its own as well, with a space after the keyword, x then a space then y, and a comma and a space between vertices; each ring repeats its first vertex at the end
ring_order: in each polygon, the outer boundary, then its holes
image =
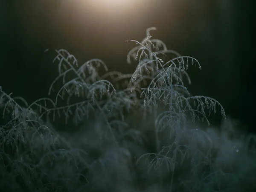
MULTIPOLYGON (((181 143, 182 138, 186 137, 187 130, 186 127, 187 115, 190 114, 190 118, 194 122, 195 119, 206 120, 207 119, 206 111, 211 111, 216 113, 216 106, 220 106, 221 114, 225 118, 225 112, 221 104, 206 96, 191 96, 187 88, 183 83, 183 76, 186 76, 188 82, 191 83, 186 70, 188 69, 189 62, 192 65, 197 64, 199 69, 201 65, 198 60, 189 56, 180 56, 177 52, 168 50, 166 45, 158 40, 151 40, 150 31, 155 30, 156 28, 148 28, 146 31, 147 37, 143 39, 142 42, 134 41, 138 44, 137 47, 132 49, 128 53, 127 61, 131 62, 131 58, 138 60, 139 64, 131 77, 130 83, 137 80, 137 78, 143 79, 145 73, 151 78, 151 82, 147 88, 142 88, 143 92, 141 97, 144 98, 144 107, 153 109, 155 114, 155 134, 156 134, 156 145, 157 145, 157 154, 145 154, 148 157, 151 155, 154 156, 151 160, 149 166, 160 166, 163 162, 169 163, 172 167, 172 180, 170 184, 170 190, 172 190, 172 183, 174 177, 174 170, 177 161, 177 154, 180 151, 180 147, 185 147, 185 151, 182 152, 183 159, 186 157, 187 153, 194 151, 190 143, 184 145, 181 143), (164 61, 160 58, 161 54, 171 53, 175 55, 175 58, 172 58, 169 61, 164 61), (156 108, 163 103, 167 106, 168 111, 161 113, 158 117, 156 114, 156 108), (169 145, 168 151, 173 151, 171 155, 165 156, 163 151, 160 150, 158 134, 164 128, 168 128, 170 135, 173 138, 173 143, 169 145), (152 163, 153 162, 153 163, 152 163)), ((191 132, 193 134, 193 131, 191 132)), ((200 136, 202 138, 200 142, 204 141, 204 133, 200 136)), ((169 152, 166 152, 168 154, 169 152)), ((144 155, 144 156, 145 156, 144 155)), ((181 160, 183 161, 183 160, 181 160)), ((200 163, 200 162, 198 162, 200 163)))

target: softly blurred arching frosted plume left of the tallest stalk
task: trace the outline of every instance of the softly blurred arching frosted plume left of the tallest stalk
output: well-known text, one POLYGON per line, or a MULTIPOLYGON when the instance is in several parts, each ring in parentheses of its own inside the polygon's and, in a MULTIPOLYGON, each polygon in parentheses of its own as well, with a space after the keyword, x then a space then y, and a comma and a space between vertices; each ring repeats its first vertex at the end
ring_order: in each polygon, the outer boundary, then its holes
MULTIPOLYGON (((58 105, 59 98, 66 101, 67 105, 57 106, 51 111, 56 111, 58 116, 64 113, 66 122, 73 114, 75 114, 73 118, 75 122, 82 119, 84 115, 88 114, 90 108, 99 108, 102 111, 102 101, 111 98, 116 93, 111 82, 101 79, 98 74, 98 69, 101 66, 105 71, 108 71, 105 63, 99 59, 92 59, 78 68, 78 62, 74 55, 64 49, 56 50, 56 52, 58 55, 53 62, 58 61, 59 76, 52 82, 49 94, 52 93, 53 86, 62 80, 61 88, 55 96, 55 105, 58 105), (74 96, 83 99, 83 101, 70 103, 74 96)), ((102 115, 105 116, 105 114, 102 115)))

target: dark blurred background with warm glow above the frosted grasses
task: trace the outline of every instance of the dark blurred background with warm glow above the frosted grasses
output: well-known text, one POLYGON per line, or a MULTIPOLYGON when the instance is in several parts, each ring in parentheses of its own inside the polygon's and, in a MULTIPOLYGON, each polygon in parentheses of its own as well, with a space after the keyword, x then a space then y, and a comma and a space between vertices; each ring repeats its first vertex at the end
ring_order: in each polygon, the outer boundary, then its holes
MULTIPOLYGON (((126 54, 145 29, 202 66, 189 67, 194 95, 217 99, 254 129, 253 6, 248 0, 1 0, 0 86, 28 102, 47 96, 57 75, 54 49, 84 63, 131 73, 126 54), (49 52, 44 52, 49 48, 49 52)), ((218 119, 218 117, 217 117, 218 119)))

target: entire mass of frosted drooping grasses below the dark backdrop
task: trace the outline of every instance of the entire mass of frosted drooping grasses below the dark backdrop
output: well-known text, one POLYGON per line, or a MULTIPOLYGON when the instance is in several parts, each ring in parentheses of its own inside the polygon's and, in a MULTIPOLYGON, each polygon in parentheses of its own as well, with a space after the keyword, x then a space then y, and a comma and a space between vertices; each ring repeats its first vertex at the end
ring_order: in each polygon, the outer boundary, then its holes
POLYGON ((233 173, 216 166, 213 134, 194 124, 209 124, 218 110, 225 119, 223 107, 189 93, 186 70, 201 70, 198 60, 167 49, 151 30, 128 52, 128 64, 137 62, 133 74, 108 72, 100 59, 79 64, 60 49, 53 60, 58 76, 49 87, 54 99, 28 104, 0 89, 2 191, 233 189, 224 185, 235 183, 233 173), (56 131, 56 119, 79 128, 56 131))

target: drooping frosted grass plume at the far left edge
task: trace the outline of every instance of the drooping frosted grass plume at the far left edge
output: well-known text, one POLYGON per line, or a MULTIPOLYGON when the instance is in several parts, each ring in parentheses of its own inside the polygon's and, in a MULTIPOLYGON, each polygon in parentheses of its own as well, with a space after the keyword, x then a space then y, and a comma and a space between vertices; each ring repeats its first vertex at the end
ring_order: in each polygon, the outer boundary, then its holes
POLYGON ((17 158, 21 155, 21 151, 27 148, 26 146, 35 147, 41 143, 47 148, 54 143, 50 142, 50 140, 55 140, 52 129, 45 126, 40 114, 35 112, 48 111, 48 107, 52 108, 54 103, 50 99, 38 99, 29 105, 21 97, 12 97, 12 94, 8 95, 1 89, 0 93, 0 108, 3 109, 3 119, 8 119, 1 126, 1 148, 9 148, 9 150, 12 148, 11 151, 15 152, 15 158, 17 158), (35 135, 39 137, 36 140, 34 139, 35 135), (49 140, 48 143, 47 140, 49 140))

